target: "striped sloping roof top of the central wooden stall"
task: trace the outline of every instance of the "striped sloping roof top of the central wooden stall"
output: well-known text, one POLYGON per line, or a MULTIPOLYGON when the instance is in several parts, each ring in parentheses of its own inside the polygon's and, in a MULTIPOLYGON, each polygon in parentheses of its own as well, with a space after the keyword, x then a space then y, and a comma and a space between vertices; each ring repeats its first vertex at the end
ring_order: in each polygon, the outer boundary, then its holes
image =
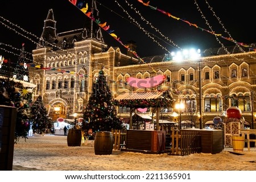
POLYGON ((164 91, 122 92, 115 100, 158 99, 164 91))

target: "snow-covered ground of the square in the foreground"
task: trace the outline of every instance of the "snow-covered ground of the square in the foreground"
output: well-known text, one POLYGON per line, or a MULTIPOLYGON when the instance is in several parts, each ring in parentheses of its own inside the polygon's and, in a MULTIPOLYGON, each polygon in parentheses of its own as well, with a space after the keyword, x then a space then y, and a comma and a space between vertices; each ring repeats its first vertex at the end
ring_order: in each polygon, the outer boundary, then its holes
POLYGON ((218 154, 176 156, 113 150, 95 155, 93 141, 69 147, 67 136, 34 135, 14 145, 13 171, 256 171, 256 149, 243 155, 225 148, 218 154))

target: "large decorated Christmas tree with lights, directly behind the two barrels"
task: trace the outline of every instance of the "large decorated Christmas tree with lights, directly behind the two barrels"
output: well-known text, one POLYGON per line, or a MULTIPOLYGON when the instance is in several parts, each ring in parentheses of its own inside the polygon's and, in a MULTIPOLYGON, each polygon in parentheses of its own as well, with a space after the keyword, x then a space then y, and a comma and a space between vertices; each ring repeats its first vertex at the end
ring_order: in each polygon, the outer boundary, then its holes
POLYGON ((122 121, 117 117, 113 105, 112 92, 109 90, 104 71, 100 70, 97 80, 93 83, 92 94, 83 115, 82 129, 92 129, 93 132, 122 129, 122 121))

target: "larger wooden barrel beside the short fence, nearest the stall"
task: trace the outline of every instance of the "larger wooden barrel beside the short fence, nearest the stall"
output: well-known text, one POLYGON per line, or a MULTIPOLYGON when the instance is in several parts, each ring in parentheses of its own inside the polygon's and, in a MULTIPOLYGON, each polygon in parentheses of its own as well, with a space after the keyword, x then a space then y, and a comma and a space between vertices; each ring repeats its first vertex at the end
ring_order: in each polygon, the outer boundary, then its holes
POLYGON ((114 137, 112 132, 97 132, 94 139, 94 152, 96 155, 112 154, 114 137))

